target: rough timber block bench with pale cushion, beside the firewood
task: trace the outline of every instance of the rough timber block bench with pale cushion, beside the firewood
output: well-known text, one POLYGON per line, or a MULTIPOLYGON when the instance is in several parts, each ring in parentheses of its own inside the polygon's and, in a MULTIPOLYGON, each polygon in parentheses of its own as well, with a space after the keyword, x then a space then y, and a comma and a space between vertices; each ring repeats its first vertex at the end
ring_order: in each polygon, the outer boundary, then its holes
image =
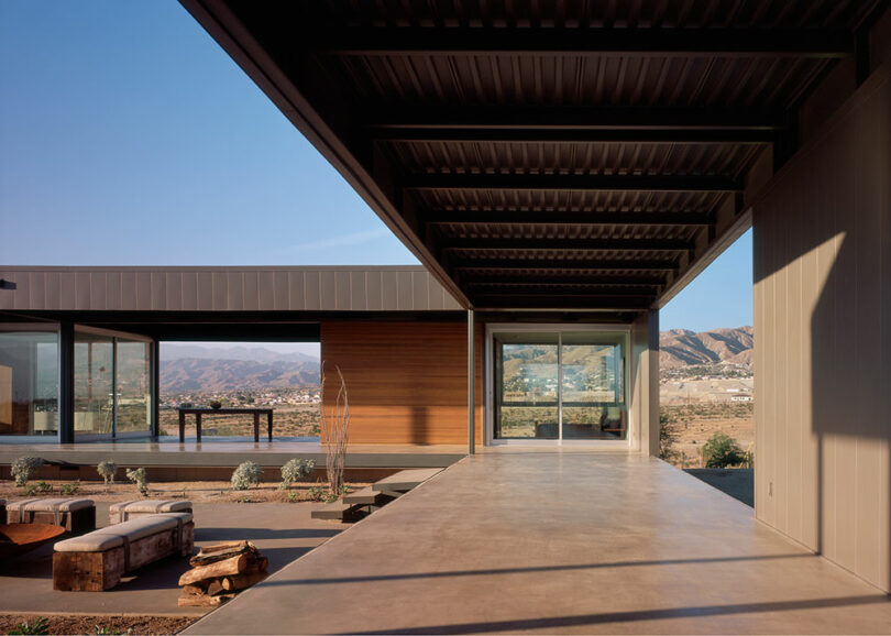
POLYGON ((55 545, 53 589, 101 592, 128 572, 176 555, 189 557, 195 524, 189 513, 138 517, 55 545))

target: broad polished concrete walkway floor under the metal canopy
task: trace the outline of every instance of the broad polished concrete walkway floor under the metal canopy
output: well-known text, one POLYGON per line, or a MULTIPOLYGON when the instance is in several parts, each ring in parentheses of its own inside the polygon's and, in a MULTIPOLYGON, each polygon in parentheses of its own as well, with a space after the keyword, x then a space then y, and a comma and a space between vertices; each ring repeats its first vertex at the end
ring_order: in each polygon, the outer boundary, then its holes
POLYGON ((889 634, 891 601, 658 460, 484 453, 187 634, 889 634))

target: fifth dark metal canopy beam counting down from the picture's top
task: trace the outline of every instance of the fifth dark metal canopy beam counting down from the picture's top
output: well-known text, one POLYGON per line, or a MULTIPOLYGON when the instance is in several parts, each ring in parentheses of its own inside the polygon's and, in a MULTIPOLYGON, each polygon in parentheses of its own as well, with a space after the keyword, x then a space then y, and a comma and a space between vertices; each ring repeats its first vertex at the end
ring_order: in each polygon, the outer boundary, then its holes
POLYGON ((527 239, 498 238, 443 238, 442 250, 547 250, 547 251, 639 251, 684 252, 694 248, 692 241, 676 239, 527 239))

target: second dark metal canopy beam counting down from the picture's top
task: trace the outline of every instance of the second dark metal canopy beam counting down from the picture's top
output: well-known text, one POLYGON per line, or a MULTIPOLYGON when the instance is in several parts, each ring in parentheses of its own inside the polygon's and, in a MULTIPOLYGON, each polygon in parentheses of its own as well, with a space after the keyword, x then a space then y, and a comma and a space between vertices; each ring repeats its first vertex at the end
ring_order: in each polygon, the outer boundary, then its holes
MULTIPOLYGON (((602 131, 771 131, 787 127, 776 108, 597 106, 413 106, 388 105, 367 116, 370 135, 385 129, 602 131)), ((380 133, 385 134, 385 133, 380 133)), ((556 134, 556 133, 554 133, 556 134)), ((630 134, 630 133, 629 133, 630 134)))

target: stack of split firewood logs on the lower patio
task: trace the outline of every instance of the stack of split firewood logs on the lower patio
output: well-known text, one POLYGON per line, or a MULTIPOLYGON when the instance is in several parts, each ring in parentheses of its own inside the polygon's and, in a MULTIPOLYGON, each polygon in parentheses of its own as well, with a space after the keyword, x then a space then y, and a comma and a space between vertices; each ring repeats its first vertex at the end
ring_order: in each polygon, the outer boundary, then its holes
POLYGON ((251 541, 229 541, 201 548, 189 564, 191 570, 179 577, 179 606, 207 607, 265 579, 268 559, 251 541))

